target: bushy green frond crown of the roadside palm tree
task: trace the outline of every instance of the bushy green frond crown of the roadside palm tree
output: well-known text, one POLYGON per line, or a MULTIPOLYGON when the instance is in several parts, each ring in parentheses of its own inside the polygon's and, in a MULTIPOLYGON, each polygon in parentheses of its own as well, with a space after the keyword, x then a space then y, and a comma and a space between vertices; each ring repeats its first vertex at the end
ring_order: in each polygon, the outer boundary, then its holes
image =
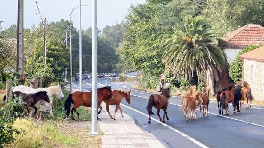
POLYGON ((191 79, 198 74, 198 80, 204 80, 205 71, 226 66, 226 57, 220 44, 226 42, 220 39, 222 35, 210 28, 202 16, 184 19, 184 26, 175 29, 172 37, 164 42, 166 48, 162 62, 170 68, 174 76, 191 79))

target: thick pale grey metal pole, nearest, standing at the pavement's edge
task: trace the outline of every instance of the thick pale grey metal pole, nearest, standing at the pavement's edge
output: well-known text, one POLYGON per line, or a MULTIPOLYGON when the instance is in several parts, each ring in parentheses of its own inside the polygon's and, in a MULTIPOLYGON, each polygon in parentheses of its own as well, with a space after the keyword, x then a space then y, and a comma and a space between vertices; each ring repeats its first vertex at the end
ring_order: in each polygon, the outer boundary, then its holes
POLYGON ((97 2, 92 1, 92 127, 91 134, 98 134, 97 132, 97 2))

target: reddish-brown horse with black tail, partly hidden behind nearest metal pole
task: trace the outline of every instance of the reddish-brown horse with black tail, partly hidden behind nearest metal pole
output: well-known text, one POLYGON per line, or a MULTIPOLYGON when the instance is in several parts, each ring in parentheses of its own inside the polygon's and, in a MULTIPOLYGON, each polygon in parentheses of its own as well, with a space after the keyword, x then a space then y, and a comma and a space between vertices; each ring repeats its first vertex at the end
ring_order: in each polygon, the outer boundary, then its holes
MULTIPOLYGON (((100 111, 98 112, 98 114, 100 114, 102 110, 102 107, 101 107, 102 101, 104 102, 110 101, 112 98, 113 92, 110 86, 106 86, 103 88, 99 88, 97 95, 98 95, 98 108, 100 108, 100 111)), ((74 112, 77 113, 77 118, 79 118, 80 114, 79 112, 77 112, 76 109, 81 105, 85 107, 92 106, 92 92, 76 91, 73 94, 70 94, 64 104, 64 109, 65 109, 67 117, 69 117, 70 111, 71 111, 71 117, 73 120, 75 120, 73 117, 74 112), (72 107, 72 104, 73 104, 73 107, 72 107)), ((98 120, 100 119, 98 118, 98 120)))

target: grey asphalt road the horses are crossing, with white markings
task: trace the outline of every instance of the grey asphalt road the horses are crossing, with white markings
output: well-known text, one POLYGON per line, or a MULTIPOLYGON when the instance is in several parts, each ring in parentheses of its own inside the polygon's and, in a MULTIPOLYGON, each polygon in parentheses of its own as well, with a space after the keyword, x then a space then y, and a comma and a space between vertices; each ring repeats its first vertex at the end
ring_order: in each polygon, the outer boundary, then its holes
MULTIPOLYGON (((83 91, 91 90, 91 80, 84 80, 83 91)), ((253 106, 250 109, 242 108, 240 113, 232 113, 229 106, 229 116, 218 115, 217 103, 211 100, 208 111, 209 117, 186 122, 183 111, 180 109, 181 98, 172 96, 168 107, 170 120, 161 123, 158 115, 152 115, 152 124, 148 124, 146 106, 148 97, 152 94, 130 88, 128 83, 107 82, 107 79, 98 79, 98 87, 106 85, 112 89, 131 90, 131 104, 123 99, 122 110, 135 119, 135 122, 147 132, 152 132, 167 147, 264 147, 264 108, 253 106), (156 120, 155 120, 156 119, 156 120)), ((79 81, 73 81, 73 88, 79 89, 79 81)), ((119 112, 118 112, 119 113, 119 112)), ((161 116, 163 116, 161 111, 161 116)), ((100 117, 100 115, 99 115, 100 117)))

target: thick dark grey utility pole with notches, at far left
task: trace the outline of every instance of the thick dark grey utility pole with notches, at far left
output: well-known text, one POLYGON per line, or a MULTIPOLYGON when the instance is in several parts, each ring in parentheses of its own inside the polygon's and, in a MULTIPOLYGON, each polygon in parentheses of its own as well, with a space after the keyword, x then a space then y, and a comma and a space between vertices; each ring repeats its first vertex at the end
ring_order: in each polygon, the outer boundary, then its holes
POLYGON ((24 0, 18 0, 16 71, 24 74, 24 0))

